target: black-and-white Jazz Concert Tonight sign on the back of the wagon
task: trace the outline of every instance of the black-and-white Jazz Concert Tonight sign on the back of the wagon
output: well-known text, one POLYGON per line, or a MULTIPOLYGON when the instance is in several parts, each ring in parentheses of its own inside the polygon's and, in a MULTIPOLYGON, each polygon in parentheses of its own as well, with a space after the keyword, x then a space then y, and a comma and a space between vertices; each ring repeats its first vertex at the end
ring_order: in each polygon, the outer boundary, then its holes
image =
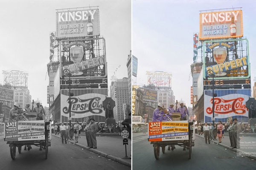
POLYGON ((5 141, 45 140, 44 120, 6 122, 5 141))

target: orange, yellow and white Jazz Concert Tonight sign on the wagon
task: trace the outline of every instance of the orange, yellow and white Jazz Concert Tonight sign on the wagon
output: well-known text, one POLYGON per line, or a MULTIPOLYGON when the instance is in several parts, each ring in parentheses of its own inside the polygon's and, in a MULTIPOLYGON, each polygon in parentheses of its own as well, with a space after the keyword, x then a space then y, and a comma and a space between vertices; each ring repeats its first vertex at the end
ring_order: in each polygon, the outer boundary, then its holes
POLYGON ((148 141, 177 141, 189 139, 189 122, 149 122, 148 141))

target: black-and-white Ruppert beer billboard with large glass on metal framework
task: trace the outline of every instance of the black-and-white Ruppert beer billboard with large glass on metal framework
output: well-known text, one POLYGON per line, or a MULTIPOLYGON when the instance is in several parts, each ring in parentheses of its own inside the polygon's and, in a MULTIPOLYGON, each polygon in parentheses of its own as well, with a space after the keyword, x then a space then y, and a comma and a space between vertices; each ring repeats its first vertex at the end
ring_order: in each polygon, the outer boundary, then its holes
POLYGON ((61 40, 60 44, 61 76, 68 75, 70 71, 70 77, 76 79, 106 78, 107 62, 104 38, 61 40))

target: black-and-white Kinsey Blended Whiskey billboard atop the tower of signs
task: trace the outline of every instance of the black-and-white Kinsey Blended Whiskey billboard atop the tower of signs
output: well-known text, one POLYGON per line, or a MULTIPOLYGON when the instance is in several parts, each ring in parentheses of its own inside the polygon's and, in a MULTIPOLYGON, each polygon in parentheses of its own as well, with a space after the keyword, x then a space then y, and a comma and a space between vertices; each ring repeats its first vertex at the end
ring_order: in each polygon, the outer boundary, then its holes
POLYGON ((56 10, 56 37, 99 36, 99 9, 60 9, 56 10))

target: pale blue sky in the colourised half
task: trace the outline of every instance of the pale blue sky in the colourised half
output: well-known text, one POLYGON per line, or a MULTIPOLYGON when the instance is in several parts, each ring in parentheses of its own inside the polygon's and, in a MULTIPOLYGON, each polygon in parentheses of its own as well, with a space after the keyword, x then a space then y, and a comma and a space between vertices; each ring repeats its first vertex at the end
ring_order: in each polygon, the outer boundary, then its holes
POLYGON ((249 40, 251 84, 256 79, 256 0, 133 0, 132 51, 138 58, 133 84, 147 85, 146 71, 172 73, 175 100, 190 105, 193 33, 202 10, 242 7, 244 37, 249 40))

